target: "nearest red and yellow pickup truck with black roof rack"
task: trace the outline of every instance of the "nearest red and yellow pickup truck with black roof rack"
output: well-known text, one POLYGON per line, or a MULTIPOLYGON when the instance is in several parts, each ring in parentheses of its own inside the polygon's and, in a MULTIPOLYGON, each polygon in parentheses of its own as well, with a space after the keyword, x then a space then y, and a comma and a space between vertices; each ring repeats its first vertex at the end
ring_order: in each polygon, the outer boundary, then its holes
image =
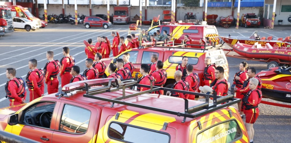
POLYGON ((184 100, 151 94, 160 90, 153 86, 128 89, 136 83, 109 78, 67 84, 59 93, 0 109, 0 130, 45 143, 248 142, 242 118, 230 106, 239 102, 233 95, 195 93, 207 100, 184 100))

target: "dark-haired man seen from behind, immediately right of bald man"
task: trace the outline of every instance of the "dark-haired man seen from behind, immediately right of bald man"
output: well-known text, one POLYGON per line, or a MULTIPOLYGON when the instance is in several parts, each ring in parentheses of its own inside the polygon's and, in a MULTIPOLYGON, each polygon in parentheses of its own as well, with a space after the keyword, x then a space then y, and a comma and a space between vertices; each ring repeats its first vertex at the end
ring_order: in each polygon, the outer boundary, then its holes
MULTIPOLYGON (((198 86, 199 86, 199 77, 197 73, 193 73, 193 66, 188 65, 186 68, 187 76, 185 77, 185 80, 189 83, 189 91, 192 92, 198 92, 198 86)), ((195 99, 195 95, 190 94, 188 99, 195 99)))

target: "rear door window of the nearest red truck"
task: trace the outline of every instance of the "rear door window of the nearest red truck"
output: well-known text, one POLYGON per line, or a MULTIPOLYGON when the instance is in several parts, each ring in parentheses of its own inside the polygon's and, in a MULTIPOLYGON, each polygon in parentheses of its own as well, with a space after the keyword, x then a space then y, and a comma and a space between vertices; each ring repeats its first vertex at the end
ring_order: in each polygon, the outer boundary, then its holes
POLYGON ((88 130, 90 116, 89 110, 65 104, 59 130, 70 133, 85 133, 88 130))

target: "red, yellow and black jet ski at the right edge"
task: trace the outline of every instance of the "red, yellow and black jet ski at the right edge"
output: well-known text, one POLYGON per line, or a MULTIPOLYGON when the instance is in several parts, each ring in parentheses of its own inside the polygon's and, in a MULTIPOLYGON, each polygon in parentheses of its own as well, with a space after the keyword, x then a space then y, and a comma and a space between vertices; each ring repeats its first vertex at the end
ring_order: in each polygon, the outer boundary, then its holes
POLYGON ((291 103, 291 67, 269 68, 256 75, 262 80, 263 97, 291 103))

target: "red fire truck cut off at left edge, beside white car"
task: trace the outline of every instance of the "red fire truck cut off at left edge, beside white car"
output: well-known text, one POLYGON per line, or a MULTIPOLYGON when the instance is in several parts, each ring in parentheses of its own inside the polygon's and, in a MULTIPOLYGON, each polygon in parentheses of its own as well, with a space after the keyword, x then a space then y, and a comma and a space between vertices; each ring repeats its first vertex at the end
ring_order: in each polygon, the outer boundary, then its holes
POLYGON ((3 27, 5 33, 14 31, 11 8, 7 6, 0 6, 0 26, 3 27))

